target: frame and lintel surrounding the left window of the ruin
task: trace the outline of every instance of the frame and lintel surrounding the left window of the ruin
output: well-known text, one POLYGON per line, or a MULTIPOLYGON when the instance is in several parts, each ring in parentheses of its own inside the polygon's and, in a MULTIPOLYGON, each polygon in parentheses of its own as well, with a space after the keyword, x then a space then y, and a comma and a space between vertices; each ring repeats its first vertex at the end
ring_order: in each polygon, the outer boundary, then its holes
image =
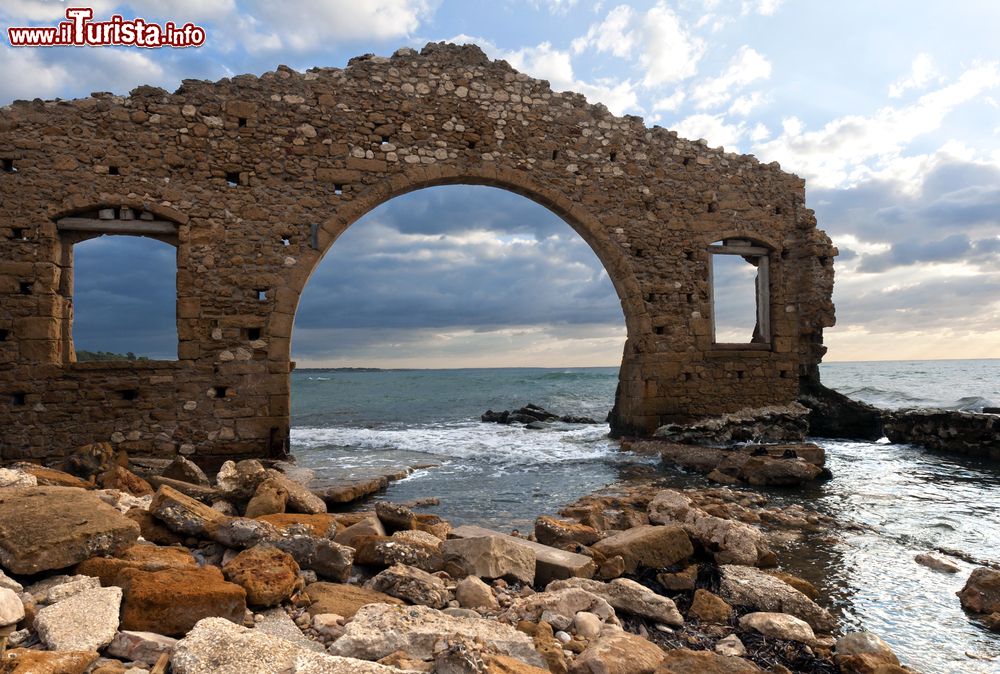
MULTIPOLYGON (((56 231, 60 243, 60 266, 64 273, 61 275, 59 283, 59 294, 72 305, 75 295, 75 268, 74 246, 84 241, 97 239, 102 236, 133 236, 154 239, 174 247, 175 251, 180 248, 179 228, 180 225, 173 220, 164 219, 144 209, 136 209, 122 204, 120 206, 97 206, 77 211, 54 219, 56 231), (65 273, 69 271, 69 273, 65 273)), ((174 270, 178 269, 178 261, 175 253, 174 270)), ((177 325, 177 303, 179 295, 174 294, 174 334, 177 337, 178 347, 180 345, 180 329, 177 325)), ((76 360, 76 343, 73 340, 73 326, 76 322, 74 312, 68 312, 63 322, 62 335, 62 362, 74 368, 98 367, 107 368, 115 365, 131 366, 135 361, 114 360, 96 361, 80 363, 76 360)), ((178 348, 179 351, 179 348, 178 348)), ((169 360, 149 359, 142 361, 147 365, 167 365, 177 363, 180 360, 178 353, 176 358, 169 360)))

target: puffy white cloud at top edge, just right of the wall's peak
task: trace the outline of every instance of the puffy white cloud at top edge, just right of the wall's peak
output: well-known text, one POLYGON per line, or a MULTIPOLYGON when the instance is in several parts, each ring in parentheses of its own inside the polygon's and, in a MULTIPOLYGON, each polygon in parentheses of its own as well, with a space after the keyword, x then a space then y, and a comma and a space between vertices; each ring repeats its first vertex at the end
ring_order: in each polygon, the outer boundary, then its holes
POLYGON ((632 58, 644 70, 647 87, 673 84, 693 76, 706 50, 705 41, 694 35, 665 2, 646 12, 618 5, 586 35, 573 41, 574 53, 593 48, 619 58, 632 58))

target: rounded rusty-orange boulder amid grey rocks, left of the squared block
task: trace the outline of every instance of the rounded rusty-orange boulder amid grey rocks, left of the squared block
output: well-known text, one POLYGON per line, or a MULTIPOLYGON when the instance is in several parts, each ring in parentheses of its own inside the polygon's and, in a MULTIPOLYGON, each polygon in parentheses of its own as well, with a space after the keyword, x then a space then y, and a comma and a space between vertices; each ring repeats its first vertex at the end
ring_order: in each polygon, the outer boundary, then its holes
POLYGON ((222 567, 226 580, 247 593, 251 606, 277 606, 302 589, 299 565, 287 552, 258 545, 236 555, 222 567))

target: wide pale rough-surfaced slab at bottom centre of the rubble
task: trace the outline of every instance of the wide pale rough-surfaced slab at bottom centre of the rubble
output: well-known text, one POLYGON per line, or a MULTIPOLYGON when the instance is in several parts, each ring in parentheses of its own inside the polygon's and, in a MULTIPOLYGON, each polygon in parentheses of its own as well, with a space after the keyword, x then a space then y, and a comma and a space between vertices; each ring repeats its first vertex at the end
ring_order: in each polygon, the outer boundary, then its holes
POLYGON ((362 607, 347 624, 344 636, 331 644, 335 655, 377 660, 395 651, 430 660, 442 637, 481 641, 501 655, 542 666, 530 637, 491 620, 455 618, 425 606, 371 604, 362 607))

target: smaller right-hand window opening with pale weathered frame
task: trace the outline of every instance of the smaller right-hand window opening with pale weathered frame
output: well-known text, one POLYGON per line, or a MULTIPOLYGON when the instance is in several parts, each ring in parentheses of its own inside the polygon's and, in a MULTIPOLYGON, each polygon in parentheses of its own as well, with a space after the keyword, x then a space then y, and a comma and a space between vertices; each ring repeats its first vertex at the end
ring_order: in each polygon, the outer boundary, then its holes
POLYGON ((713 343, 770 344, 768 249, 729 239, 709 246, 709 251, 713 343))

